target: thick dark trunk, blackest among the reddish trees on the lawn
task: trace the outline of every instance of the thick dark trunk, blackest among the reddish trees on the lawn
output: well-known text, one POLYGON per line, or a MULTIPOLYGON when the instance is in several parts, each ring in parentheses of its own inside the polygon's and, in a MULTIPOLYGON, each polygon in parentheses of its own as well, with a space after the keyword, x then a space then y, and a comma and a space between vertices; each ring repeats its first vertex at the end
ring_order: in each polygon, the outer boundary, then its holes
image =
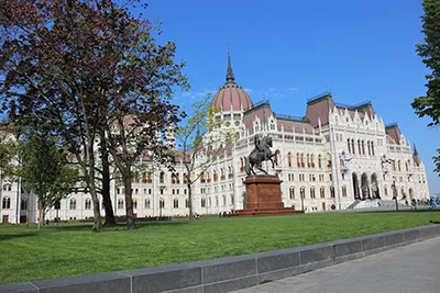
MULTIPOLYGON (((101 137, 101 164, 102 164, 102 203, 106 211, 106 223, 105 226, 113 226, 117 224, 113 213, 113 206, 111 205, 110 198, 110 164, 109 164, 109 151, 107 149, 106 137, 103 134, 101 137)), ((116 203, 114 203, 116 204, 116 203)))

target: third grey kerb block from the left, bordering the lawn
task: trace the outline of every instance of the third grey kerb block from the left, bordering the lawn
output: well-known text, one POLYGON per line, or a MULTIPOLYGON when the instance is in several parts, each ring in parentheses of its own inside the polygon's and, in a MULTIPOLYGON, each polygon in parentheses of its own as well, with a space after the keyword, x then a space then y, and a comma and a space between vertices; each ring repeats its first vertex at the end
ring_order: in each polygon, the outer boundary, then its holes
POLYGON ((163 292, 201 285, 201 267, 191 263, 121 271, 119 273, 131 278, 131 293, 163 292))

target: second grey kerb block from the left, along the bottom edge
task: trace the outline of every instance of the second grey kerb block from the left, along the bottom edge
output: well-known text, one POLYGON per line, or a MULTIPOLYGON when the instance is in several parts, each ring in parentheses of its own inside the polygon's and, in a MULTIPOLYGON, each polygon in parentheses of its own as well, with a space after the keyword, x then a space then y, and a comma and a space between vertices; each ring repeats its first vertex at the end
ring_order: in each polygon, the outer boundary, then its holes
POLYGON ((116 272, 32 282, 38 293, 130 292, 130 278, 116 272))

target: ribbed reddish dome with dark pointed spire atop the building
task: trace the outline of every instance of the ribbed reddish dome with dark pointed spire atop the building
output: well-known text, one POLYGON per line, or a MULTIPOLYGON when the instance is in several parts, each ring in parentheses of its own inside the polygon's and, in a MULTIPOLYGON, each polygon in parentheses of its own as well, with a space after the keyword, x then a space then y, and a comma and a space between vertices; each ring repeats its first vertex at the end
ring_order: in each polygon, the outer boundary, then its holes
POLYGON ((211 106, 221 109, 223 112, 241 111, 253 106, 249 94, 234 81, 231 56, 228 56, 227 82, 213 97, 211 106))

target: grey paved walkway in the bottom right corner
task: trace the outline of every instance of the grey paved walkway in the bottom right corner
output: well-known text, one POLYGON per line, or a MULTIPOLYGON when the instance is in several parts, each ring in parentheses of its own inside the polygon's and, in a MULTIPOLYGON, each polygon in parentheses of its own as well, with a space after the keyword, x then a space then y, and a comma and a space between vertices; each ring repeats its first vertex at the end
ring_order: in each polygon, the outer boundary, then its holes
POLYGON ((439 293, 440 237, 239 292, 439 293))

